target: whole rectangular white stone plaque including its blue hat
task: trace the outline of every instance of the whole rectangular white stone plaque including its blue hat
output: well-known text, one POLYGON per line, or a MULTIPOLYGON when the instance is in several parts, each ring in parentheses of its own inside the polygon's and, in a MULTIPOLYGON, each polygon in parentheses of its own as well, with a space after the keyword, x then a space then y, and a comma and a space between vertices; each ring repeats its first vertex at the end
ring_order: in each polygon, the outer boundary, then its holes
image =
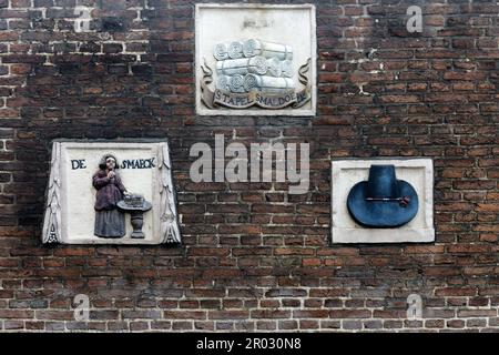
MULTIPOLYGON (((434 229, 434 165, 430 159, 373 159, 373 160, 342 160, 332 164, 332 236, 333 243, 421 243, 435 241, 434 229), (373 166, 381 170, 394 168, 394 178, 398 187, 391 195, 385 194, 384 186, 379 186, 379 174, 373 174, 373 166), (374 184, 375 181, 377 184, 374 184), (368 192, 364 201, 358 201, 360 211, 353 211, 347 203, 352 192, 365 184, 368 192), (403 189, 404 186, 410 186, 403 189), (411 189, 414 192, 411 193, 411 189), (369 196, 375 191, 376 196, 369 196), (409 192, 407 192, 409 191, 409 192), (398 193, 400 195, 398 196, 398 193), (387 204, 395 209, 379 206, 387 204), (416 205, 414 205, 416 204, 416 205), (350 209, 350 211, 349 211, 350 209), (361 211, 361 210, 365 211, 361 211), (389 211, 389 215, 383 215, 389 211), (411 215, 411 211, 416 211, 411 215), (357 212, 357 221, 356 213, 357 212), (373 215, 369 215, 371 213, 373 215), (360 216, 360 217, 359 217, 360 216), (399 226, 383 227, 387 221, 399 217, 399 226), (374 219, 375 225, 363 225, 374 219)), ((383 183, 391 186, 394 181, 383 183)), ((355 197, 354 197, 355 199, 355 197)), ((389 223, 388 223, 389 224, 389 223)))

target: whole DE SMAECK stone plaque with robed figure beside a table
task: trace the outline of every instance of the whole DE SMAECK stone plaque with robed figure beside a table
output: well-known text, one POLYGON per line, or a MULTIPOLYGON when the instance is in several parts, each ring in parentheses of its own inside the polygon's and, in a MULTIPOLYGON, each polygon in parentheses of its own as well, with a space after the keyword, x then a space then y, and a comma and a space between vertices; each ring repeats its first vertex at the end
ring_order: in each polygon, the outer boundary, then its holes
POLYGON ((180 243, 165 141, 55 141, 43 243, 180 243))

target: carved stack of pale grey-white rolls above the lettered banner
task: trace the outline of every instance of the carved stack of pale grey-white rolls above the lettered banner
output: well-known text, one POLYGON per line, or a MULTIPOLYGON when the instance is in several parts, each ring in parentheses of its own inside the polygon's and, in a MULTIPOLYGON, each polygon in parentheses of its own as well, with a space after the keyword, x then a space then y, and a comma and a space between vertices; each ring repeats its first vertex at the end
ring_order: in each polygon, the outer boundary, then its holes
POLYGON ((218 43, 216 88, 233 93, 293 91, 293 48, 258 39, 218 43))

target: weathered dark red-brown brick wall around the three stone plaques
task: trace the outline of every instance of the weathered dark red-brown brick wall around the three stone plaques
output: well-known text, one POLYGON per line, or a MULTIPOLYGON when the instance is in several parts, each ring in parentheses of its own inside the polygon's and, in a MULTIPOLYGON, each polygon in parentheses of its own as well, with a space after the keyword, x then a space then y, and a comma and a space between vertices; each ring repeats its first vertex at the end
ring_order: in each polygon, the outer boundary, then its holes
POLYGON ((80 1, 77 33, 74 0, 0 0, 0 329, 498 331, 499 4, 417 1, 408 33, 413 2, 315 2, 315 118, 207 118, 193 1, 80 1), (191 182, 215 133, 310 143, 309 192, 191 182), (41 245, 52 139, 163 136, 181 247, 41 245), (434 159, 434 244, 330 245, 330 159, 360 156, 434 159))

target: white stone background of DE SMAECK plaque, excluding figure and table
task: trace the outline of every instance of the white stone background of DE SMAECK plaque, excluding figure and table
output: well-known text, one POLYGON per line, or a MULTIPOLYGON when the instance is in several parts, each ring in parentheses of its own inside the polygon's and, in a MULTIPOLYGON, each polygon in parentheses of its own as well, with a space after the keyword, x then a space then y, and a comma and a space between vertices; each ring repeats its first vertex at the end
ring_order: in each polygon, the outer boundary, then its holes
POLYGON ((169 154, 166 141, 54 141, 42 242, 180 243, 175 190, 169 154), (102 156, 108 153, 116 158, 120 165, 116 173, 128 193, 141 195, 151 204, 151 210, 142 214, 143 236, 136 237, 136 233, 132 234, 134 227, 131 221, 132 214, 129 212, 123 212, 124 236, 111 239, 94 234, 96 187, 93 185, 93 176, 99 171, 102 156))

